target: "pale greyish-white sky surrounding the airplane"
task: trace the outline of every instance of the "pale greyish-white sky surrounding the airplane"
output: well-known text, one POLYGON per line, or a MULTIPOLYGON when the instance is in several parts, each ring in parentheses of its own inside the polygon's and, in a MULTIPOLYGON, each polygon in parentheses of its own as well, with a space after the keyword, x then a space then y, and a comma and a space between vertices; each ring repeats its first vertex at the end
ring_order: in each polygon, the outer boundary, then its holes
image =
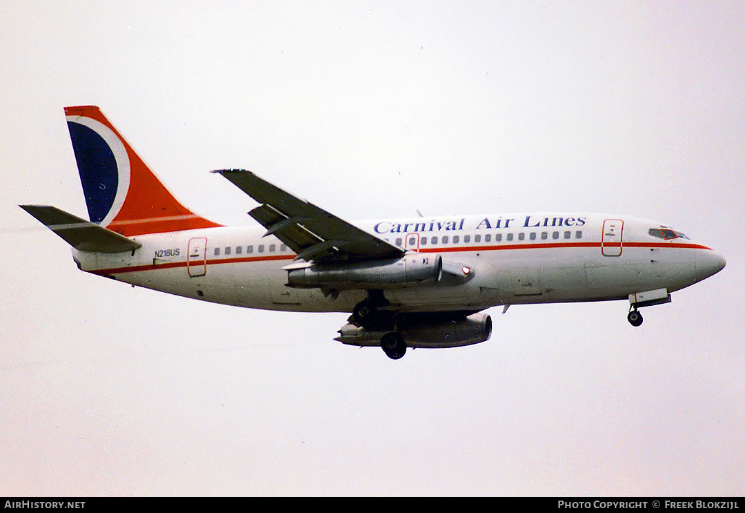
POLYGON ((745 4, 526 3, 2 4, 0 495, 745 494, 745 4), (77 271, 16 206, 86 214, 74 104, 223 223, 242 167, 350 220, 652 218, 728 265, 638 329, 513 306, 394 362, 343 314, 77 271))

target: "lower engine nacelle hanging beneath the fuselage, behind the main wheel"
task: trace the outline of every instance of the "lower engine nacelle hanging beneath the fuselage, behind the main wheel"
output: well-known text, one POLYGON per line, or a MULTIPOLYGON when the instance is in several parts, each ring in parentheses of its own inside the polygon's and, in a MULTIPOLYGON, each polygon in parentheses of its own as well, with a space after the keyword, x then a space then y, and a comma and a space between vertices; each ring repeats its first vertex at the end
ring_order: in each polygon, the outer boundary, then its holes
MULTIPOLYGON (((460 347, 485 342, 492 336, 492 318, 484 313, 468 317, 448 315, 399 315, 398 330, 408 347, 460 347)), ((343 344, 379 346, 388 330, 370 331, 346 324, 335 340, 343 344)))

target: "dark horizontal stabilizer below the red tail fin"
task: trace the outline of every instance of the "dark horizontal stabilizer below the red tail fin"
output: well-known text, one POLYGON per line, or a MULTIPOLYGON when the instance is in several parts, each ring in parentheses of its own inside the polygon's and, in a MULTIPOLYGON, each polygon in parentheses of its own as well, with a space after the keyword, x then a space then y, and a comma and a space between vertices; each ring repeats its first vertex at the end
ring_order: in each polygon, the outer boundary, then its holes
POLYGON ((19 205, 73 248, 96 253, 121 253, 142 247, 142 244, 108 230, 98 224, 48 205, 19 205))

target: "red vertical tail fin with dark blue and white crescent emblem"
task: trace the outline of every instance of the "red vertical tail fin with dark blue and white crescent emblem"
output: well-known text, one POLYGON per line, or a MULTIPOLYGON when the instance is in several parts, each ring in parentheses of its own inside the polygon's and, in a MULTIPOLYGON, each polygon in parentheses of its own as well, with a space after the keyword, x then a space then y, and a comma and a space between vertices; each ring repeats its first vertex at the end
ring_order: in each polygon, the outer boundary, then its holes
POLYGON ((98 107, 65 115, 92 223, 124 236, 220 226, 180 204, 98 107))

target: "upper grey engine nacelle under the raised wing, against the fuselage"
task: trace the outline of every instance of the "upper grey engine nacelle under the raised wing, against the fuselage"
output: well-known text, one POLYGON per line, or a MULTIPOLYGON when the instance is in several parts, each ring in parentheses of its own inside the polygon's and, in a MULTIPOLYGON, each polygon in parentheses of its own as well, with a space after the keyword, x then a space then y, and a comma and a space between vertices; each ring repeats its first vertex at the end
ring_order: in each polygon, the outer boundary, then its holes
POLYGON ((288 286, 295 289, 390 289, 440 281, 443 258, 408 254, 379 262, 291 265, 287 271, 288 286))

